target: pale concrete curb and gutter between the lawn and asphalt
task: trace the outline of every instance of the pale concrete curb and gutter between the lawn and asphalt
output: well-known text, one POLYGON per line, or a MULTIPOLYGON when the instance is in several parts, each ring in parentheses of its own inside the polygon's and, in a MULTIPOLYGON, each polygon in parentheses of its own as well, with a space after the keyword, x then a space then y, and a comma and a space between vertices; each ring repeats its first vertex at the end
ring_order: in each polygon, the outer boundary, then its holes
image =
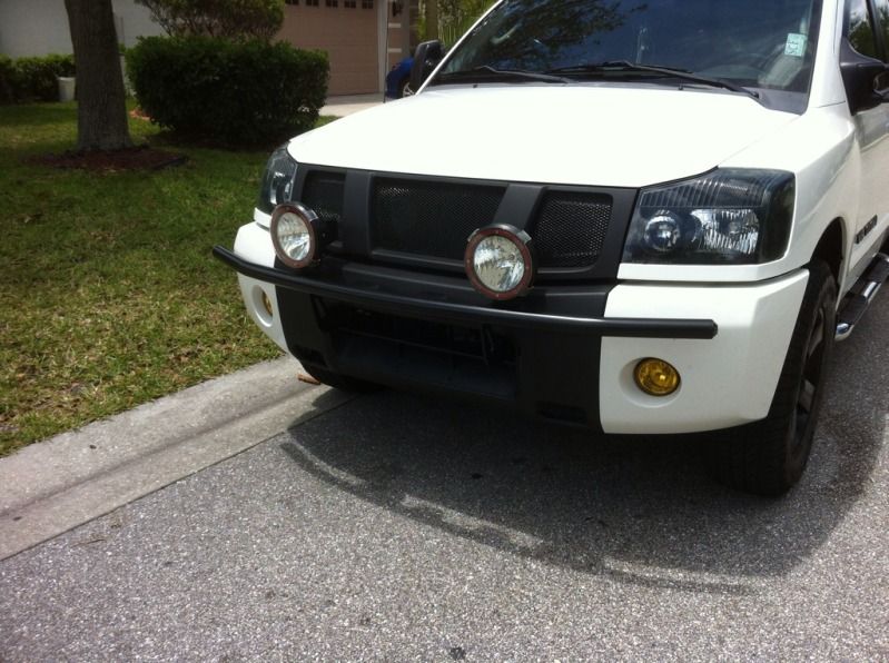
POLYGON ((353 396, 264 362, 0 458, 0 560, 338 407, 353 396))

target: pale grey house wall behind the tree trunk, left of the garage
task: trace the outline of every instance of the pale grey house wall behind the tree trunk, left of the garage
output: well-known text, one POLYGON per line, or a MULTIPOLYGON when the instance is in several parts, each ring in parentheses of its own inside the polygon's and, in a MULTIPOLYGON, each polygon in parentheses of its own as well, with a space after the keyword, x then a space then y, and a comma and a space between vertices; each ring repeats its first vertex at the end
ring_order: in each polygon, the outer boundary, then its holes
MULTIPOLYGON (((161 34, 149 11, 132 0, 112 0, 118 41, 161 34)), ((62 0, 0 0, 0 53, 11 58, 70 53, 71 34, 62 0)))

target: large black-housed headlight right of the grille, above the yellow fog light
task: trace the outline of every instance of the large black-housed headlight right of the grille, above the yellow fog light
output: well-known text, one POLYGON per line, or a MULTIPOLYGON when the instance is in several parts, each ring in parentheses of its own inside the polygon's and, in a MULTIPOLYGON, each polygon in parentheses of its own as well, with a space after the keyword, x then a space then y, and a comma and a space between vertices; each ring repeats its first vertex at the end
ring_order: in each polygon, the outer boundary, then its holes
POLYGON ((794 179, 781 170, 720 169, 643 189, 624 263, 743 265, 780 258, 793 220, 794 179))

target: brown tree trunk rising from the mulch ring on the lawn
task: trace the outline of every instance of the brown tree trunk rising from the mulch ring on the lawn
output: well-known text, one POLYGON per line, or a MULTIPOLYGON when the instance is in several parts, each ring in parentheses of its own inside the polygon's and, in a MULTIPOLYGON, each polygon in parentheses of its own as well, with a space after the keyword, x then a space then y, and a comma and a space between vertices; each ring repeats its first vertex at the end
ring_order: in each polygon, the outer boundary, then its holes
POLYGON ((65 0, 77 67, 77 149, 132 147, 111 0, 65 0))

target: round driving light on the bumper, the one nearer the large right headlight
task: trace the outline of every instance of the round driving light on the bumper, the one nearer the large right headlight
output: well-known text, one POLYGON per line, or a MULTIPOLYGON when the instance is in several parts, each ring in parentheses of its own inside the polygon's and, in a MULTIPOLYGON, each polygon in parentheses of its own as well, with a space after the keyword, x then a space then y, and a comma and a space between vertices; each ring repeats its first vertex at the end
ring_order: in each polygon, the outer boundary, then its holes
POLYGON ((490 226, 470 236, 464 258, 473 287, 492 299, 512 299, 534 279, 531 237, 512 226, 490 226))

